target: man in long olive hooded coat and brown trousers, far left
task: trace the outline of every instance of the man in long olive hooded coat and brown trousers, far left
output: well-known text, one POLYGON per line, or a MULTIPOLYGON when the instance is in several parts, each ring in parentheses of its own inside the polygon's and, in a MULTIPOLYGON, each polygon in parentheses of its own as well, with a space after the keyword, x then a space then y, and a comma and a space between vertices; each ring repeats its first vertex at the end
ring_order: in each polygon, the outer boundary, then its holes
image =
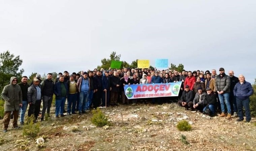
POLYGON ((21 87, 17 85, 18 79, 11 77, 10 84, 6 85, 2 91, 1 97, 4 99, 4 118, 3 118, 3 132, 7 132, 10 122, 11 112, 13 112, 13 128, 17 129, 19 110, 22 107, 22 91, 21 87))

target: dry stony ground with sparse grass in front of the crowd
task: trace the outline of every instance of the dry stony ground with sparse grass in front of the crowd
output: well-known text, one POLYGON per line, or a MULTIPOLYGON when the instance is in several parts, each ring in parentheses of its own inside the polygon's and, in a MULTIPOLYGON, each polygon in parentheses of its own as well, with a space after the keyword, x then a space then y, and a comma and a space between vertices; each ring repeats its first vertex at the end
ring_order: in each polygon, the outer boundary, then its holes
MULTIPOLYGON (((7 133, 0 129, 0 150, 45 150, 45 151, 255 151, 256 124, 236 122, 204 116, 179 107, 176 103, 155 105, 138 103, 118 107, 101 108, 112 123, 111 126, 97 128, 90 121, 92 113, 54 117, 40 122, 38 137, 44 138, 42 147, 35 140, 22 136, 21 129, 7 133), (180 132, 176 124, 187 120, 191 131, 180 132), (181 135, 186 136, 185 141, 181 135)), ((2 123, 2 121, 0 121, 2 123)), ((37 138, 38 138, 37 137, 37 138)), ((36 139, 36 138, 35 138, 36 139)))

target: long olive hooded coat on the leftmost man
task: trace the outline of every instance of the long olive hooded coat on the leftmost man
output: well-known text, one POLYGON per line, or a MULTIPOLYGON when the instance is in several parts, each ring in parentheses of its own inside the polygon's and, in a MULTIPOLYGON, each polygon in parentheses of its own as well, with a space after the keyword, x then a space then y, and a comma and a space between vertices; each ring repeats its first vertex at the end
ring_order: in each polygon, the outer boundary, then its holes
POLYGON ((2 94, 1 94, 1 97, 5 100, 5 103, 4 103, 4 111, 5 112, 18 111, 20 109, 20 104, 22 104, 21 87, 17 84, 12 85, 12 81, 14 79, 17 79, 17 78, 11 77, 10 84, 8 84, 4 87, 2 94))

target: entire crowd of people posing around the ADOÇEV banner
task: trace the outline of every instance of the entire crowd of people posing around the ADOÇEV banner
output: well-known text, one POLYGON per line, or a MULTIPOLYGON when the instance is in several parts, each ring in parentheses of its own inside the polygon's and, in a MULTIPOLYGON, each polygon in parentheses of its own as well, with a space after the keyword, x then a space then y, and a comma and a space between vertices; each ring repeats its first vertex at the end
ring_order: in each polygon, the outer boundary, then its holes
MULTIPOLYGON (((245 108, 246 121, 251 120, 249 108, 249 96, 253 94, 250 83, 240 74, 234 76, 232 70, 229 76, 224 68, 219 69, 220 74, 213 69, 205 71, 154 70, 138 68, 109 69, 81 71, 80 73, 64 71, 53 81, 52 73, 47 74, 47 79, 41 80, 37 74, 33 82, 28 84, 28 77, 23 76, 21 82, 18 78, 11 77, 10 84, 2 91, 5 100, 3 132, 7 132, 11 113, 13 114, 14 128, 24 124, 24 116, 29 105, 28 116, 33 115, 36 122, 40 112, 41 100, 43 108, 41 121, 44 116, 50 116, 50 108, 55 95, 55 116, 65 116, 64 106, 67 98, 67 115, 83 114, 91 108, 99 106, 116 106, 118 101, 129 104, 125 96, 124 86, 132 84, 172 83, 182 81, 178 104, 185 109, 199 110, 211 116, 216 115, 216 110, 221 110, 220 117, 231 118, 238 116, 237 121, 243 121, 243 107, 245 108), (45 111, 47 109, 46 115, 45 111), (226 110, 227 109, 227 110, 226 110)), ((132 99, 136 103, 138 99, 132 99)), ((147 99, 149 100, 149 99, 147 99)), ((152 103, 162 103, 161 97, 151 98, 152 103)))

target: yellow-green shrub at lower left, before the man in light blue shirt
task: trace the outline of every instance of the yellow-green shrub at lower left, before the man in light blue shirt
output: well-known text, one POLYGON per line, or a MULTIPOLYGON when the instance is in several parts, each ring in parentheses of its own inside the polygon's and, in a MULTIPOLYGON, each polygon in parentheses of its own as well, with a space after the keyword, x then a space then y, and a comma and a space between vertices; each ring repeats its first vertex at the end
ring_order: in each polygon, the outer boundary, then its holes
POLYGON ((40 124, 35 123, 34 115, 31 115, 27 118, 27 123, 23 127, 22 136, 28 137, 28 138, 34 138, 37 136, 37 134, 40 131, 40 124))

